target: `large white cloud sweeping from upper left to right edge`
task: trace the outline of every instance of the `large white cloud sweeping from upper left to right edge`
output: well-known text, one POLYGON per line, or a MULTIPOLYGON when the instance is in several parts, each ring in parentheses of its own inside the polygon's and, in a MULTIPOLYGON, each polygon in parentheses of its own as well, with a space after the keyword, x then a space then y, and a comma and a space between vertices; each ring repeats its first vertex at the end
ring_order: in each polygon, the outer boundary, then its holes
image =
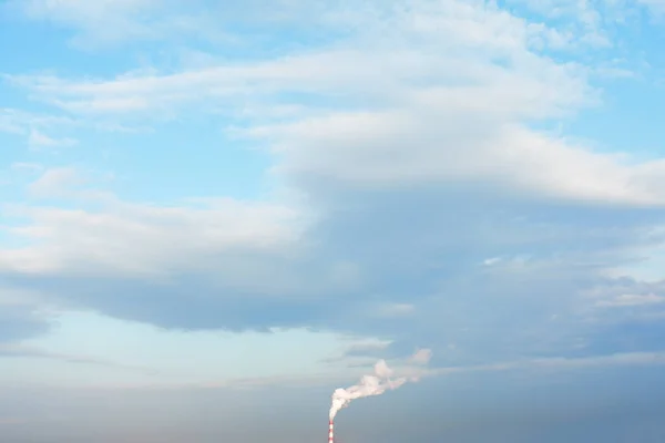
POLYGON ((409 13, 389 16, 395 37, 386 41, 375 34, 386 24, 361 18, 368 25, 351 42, 273 60, 114 80, 13 81, 84 114, 147 117, 224 103, 249 117, 235 133, 270 146, 275 171, 291 178, 369 187, 452 181, 582 202, 665 203, 664 162, 631 165, 529 128, 526 121, 561 117, 595 100, 586 83, 593 70, 531 48, 531 34, 548 28, 481 2, 416 2, 409 13), (315 94, 318 104, 280 97, 289 92, 315 94), (348 107, 326 110, 334 95, 349 100, 348 107), (374 110, 358 111, 358 100, 374 110), (277 123, 266 115, 270 123, 262 124, 241 103, 296 112, 277 123))

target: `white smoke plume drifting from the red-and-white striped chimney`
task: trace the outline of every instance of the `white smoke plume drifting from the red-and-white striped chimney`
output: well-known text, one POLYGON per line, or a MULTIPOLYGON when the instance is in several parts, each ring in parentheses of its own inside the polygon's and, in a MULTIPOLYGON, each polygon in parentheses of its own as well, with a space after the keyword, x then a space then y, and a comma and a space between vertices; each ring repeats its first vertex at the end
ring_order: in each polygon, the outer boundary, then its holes
MULTIPOLYGON (((421 349, 409 358, 409 362, 416 364, 427 364, 431 357, 429 349, 421 349)), ((391 379, 392 369, 388 367, 386 360, 379 360, 375 364, 375 373, 371 375, 362 375, 360 382, 347 389, 338 388, 332 392, 332 401, 330 405, 330 421, 340 409, 347 408, 351 400, 361 399, 364 396, 380 395, 388 390, 393 390, 407 381, 418 381, 416 377, 406 378, 399 377, 391 379)))

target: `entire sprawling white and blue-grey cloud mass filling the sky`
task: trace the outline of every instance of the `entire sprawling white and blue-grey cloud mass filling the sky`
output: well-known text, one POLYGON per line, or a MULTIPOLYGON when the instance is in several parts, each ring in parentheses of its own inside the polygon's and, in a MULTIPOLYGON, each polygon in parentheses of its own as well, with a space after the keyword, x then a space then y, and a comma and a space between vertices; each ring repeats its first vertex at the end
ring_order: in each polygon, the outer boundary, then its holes
MULTIPOLYGON (((171 21, 167 3, 24 12, 106 43, 168 40, 166 27, 194 35, 197 14, 171 21)), ((232 9, 226 20, 267 20, 270 33, 311 12, 288 4, 284 17, 232 9)), ((332 330, 390 340, 390 357, 424 346, 441 365, 655 351, 662 282, 621 269, 663 245, 665 163, 556 132, 602 105, 611 63, 597 11, 569 9, 581 13, 572 27, 480 1, 326 3, 297 28, 331 32, 320 44, 7 75, 90 131, 214 116, 270 159, 275 185, 264 198, 155 204, 49 167, 2 209, 20 222, 3 226, 0 277, 58 309, 163 328, 332 330)), ((18 321, 7 337, 27 333, 18 321)))

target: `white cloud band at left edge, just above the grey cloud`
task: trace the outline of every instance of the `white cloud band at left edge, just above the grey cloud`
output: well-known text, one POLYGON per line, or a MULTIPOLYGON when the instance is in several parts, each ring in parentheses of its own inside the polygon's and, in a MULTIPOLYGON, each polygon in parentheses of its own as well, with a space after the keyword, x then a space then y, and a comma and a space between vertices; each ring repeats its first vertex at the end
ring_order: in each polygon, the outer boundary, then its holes
MULTIPOLYGON (((75 181, 69 169, 51 171, 33 184, 32 190, 41 196, 52 195, 58 190, 55 186, 75 181)), ((31 245, 2 249, 0 266, 31 272, 82 267, 102 275, 161 276, 171 270, 197 268, 218 272, 219 278, 228 280, 243 279, 243 275, 249 279, 248 285, 269 286, 270 281, 253 280, 249 276, 262 274, 263 266, 268 275, 277 272, 272 278, 279 281, 287 278, 279 276, 279 266, 262 265, 260 259, 247 260, 262 250, 268 256, 284 254, 283 248, 298 235, 289 208, 233 199, 209 202, 203 208, 120 202, 110 203, 102 210, 13 206, 6 214, 32 220, 10 228, 14 235, 31 240, 31 245), (232 256, 221 256, 224 251, 232 256), (215 271, 222 262, 226 269, 215 271)))

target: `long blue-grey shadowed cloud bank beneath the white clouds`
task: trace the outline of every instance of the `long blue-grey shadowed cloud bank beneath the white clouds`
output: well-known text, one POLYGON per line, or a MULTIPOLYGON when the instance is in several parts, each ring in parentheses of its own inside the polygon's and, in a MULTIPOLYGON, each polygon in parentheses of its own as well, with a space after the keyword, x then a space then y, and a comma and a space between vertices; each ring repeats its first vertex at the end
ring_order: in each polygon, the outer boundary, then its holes
MULTIPOLYGON (((395 340, 381 351, 387 357, 423 346, 434 349, 438 364, 469 364, 612 352, 611 346, 592 346, 594 337, 612 331, 585 323, 583 295, 621 285, 602 271, 633 259, 636 245, 661 241, 649 229, 659 222, 658 209, 521 200, 489 189, 310 189, 320 193, 314 195, 326 215, 301 238, 315 246, 296 258, 270 258, 295 279, 286 286, 266 280, 269 292, 209 274, 222 262, 207 262, 200 272, 172 272, 164 282, 82 277, 75 269, 6 278, 49 291, 64 307, 165 328, 336 330, 395 340), (497 256, 505 258, 483 265, 497 256), (321 276, 339 262, 352 264, 357 278, 330 285, 321 276), (377 315, 388 303, 413 310, 377 315)), ((643 350, 638 340, 621 349, 643 350)))

